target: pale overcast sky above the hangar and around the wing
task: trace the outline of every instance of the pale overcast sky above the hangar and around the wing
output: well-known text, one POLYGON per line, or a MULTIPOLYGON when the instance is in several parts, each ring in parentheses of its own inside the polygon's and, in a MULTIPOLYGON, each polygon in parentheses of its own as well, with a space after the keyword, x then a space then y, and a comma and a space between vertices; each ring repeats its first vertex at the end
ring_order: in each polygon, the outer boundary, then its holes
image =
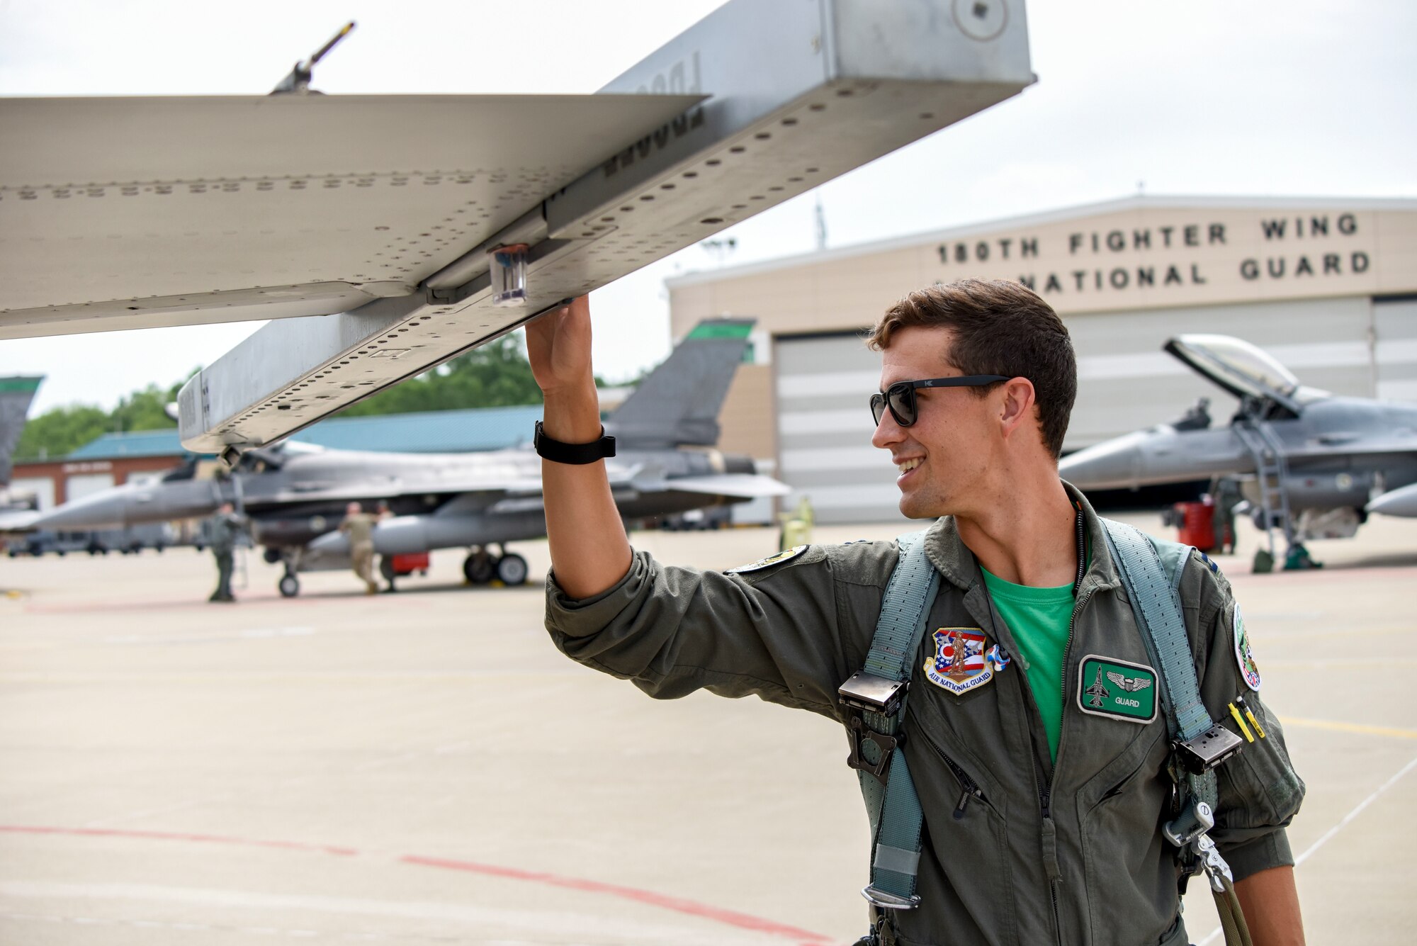
MULTIPOLYGON (((316 69, 327 93, 594 92, 717 6, 0 0, 0 95, 265 93, 351 18, 359 28, 316 69)), ((737 239, 726 263, 811 251, 816 195, 830 246, 1138 188, 1417 195, 1408 0, 1032 0, 1027 17, 1037 85, 726 231, 737 239)), ((663 279, 717 265, 691 246, 597 292, 601 374, 662 358, 663 279)), ((48 375, 35 412, 111 406, 210 364, 258 324, 0 341, 0 374, 48 375)))

